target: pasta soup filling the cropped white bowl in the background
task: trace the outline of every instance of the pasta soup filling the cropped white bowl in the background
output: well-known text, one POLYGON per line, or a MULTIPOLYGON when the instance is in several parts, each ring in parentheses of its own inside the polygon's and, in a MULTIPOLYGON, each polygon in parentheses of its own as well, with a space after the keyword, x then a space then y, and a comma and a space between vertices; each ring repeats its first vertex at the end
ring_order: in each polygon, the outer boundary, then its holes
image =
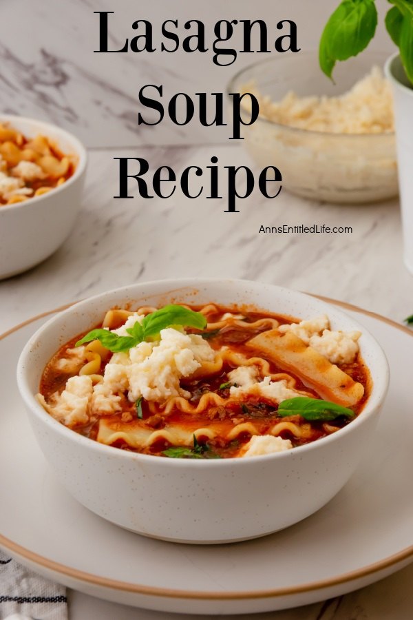
POLYGON ((74 174, 76 157, 46 136, 27 138, 0 123, 0 207, 47 194, 74 174))

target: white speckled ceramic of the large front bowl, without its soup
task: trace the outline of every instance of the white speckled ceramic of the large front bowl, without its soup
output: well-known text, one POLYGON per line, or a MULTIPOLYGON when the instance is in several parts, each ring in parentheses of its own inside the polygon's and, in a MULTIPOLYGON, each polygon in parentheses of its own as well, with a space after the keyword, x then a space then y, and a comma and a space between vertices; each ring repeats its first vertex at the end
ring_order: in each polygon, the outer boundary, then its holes
POLYGON ((388 364, 372 335, 315 298, 243 280, 165 280, 132 285, 80 302, 37 331, 23 349, 19 390, 56 476, 94 513, 145 536, 189 543, 238 541, 286 528, 324 506, 357 467, 388 388, 388 364), (334 329, 363 332, 361 351, 373 386, 362 413, 334 435, 290 451, 197 461, 125 452, 56 422, 36 402, 45 364, 62 344, 132 302, 253 304, 297 318, 327 313, 334 329))

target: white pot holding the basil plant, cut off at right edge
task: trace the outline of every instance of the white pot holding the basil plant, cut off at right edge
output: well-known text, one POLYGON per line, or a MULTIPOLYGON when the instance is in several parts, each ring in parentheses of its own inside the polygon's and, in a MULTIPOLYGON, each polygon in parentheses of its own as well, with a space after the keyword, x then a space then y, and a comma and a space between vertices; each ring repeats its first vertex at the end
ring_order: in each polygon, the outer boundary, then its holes
POLYGON ((404 261, 413 273, 413 87, 399 54, 390 56, 385 63, 385 75, 392 84, 394 94, 404 261))

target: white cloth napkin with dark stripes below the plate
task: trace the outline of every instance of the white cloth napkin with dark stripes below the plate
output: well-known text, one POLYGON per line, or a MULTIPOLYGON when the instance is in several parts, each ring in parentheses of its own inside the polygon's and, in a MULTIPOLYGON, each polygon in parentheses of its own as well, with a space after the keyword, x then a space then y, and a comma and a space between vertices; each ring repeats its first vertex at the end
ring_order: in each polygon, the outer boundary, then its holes
POLYGON ((0 620, 11 614, 36 620, 67 620, 66 588, 0 551, 0 620))

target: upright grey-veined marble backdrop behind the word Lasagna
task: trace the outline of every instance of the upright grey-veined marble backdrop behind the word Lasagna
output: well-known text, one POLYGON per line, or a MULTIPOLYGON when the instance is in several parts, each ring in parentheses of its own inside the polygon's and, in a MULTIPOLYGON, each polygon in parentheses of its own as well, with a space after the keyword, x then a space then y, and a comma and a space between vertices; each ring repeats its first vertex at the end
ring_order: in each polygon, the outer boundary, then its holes
MULTIPOLYGON (((202 127, 191 123, 180 127, 164 118, 154 126, 138 125, 138 94, 144 84, 162 85, 164 103, 177 92, 224 92, 226 84, 241 68, 268 54, 237 55, 236 62, 218 67, 212 61, 213 25, 220 19, 263 19, 268 41, 279 33, 280 19, 291 19, 299 28, 303 51, 317 50, 321 29, 331 10, 331 0, 317 0, 311 10, 304 0, 3 0, 0 2, 0 107, 8 114, 44 119, 73 132, 88 147, 139 144, 213 143, 227 139, 227 128, 202 127), (137 34, 136 19, 153 24, 153 54, 95 53, 98 50, 99 19, 94 11, 110 11, 109 50, 123 48, 125 39, 137 34), (22 18, 24 16, 24 18, 22 18), (160 52, 160 25, 165 19, 179 23, 184 37, 187 19, 206 24, 209 52, 173 54, 160 52)), ((387 2, 377 2, 380 19, 370 50, 390 53, 394 45, 383 26, 387 2)), ((139 31, 140 32, 140 31, 139 31)), ((240 25, 230 47, 242 49, 240 25)), ((222 47, 222 45, 221 45, 222 47)), ((275 54, 272 54, 275 56, 275 54)), ((167 116, 167 115, 166 115, 167 116)))

